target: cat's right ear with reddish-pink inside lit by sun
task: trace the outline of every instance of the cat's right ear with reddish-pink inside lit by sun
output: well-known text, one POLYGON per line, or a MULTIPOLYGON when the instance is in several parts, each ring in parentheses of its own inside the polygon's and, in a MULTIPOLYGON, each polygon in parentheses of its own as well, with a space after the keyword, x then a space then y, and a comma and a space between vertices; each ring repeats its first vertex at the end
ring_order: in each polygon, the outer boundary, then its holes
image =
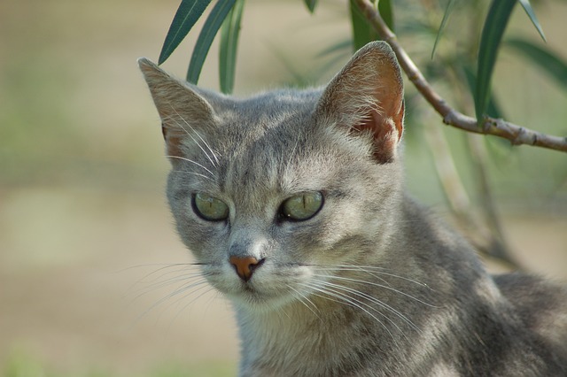
POLYGON ((316 117, 373 135, 378 163, 396 157, 403 132, 404 100, 400 65, 386 42, 358 50, 323 91, 316 117))

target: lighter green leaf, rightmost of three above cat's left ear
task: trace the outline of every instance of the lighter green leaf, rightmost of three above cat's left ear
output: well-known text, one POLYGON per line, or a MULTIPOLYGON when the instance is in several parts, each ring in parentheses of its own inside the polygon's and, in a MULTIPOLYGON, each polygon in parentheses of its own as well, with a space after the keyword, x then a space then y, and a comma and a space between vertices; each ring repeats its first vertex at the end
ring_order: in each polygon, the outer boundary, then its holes
POLYGON ((237 45, 240 34, 240 20, 245 0, 237 0, 229 15, 222 23, 221 46, 219 51, 219 77, 222 93, 232 93, 237 66, 237 45))

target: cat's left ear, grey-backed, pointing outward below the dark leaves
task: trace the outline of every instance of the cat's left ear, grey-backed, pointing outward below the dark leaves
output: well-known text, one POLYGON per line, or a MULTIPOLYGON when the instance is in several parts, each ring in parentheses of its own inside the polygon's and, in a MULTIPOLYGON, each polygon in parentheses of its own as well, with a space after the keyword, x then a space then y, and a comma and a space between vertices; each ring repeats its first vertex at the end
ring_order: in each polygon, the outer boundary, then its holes
POLYGON ((183 138, 196 129, 214 125, 214 111, 206 99, 188 88, 182 81, 169 76, 146 58, 138 65, 144 73, 153 102, 161 118, 161 130, 166 141, 167 155, 183 157, 183 138))

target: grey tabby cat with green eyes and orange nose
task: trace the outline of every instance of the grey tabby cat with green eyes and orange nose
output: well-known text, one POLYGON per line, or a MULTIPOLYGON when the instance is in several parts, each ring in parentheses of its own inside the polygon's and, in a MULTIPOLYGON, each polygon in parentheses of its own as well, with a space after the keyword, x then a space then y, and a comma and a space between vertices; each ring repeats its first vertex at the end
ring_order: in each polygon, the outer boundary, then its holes
POLYGON ((240 376, 567 376, 567 288, 489 275, 406 193, 387 43, 324 88, 246 99, 138 63, 178 233, 236 311, 240 376))

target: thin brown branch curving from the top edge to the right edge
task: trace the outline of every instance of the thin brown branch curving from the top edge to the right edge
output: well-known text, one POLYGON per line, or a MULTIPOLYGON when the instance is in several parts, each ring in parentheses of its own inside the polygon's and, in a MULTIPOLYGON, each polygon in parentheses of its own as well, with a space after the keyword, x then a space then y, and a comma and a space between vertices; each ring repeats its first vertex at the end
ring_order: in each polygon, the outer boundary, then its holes
POLYGON ((504 119, 494 119, 487 116, 482 119, 481 126, 478 126, 477 119, 454 110, 425 80, 423 74, 417 69, 412 59, 409 58, 406 50, 400 46, 396 35, 386 26, 384 19, 377 12, 374 4, 370 3, 369 0, 354 0, 354 3, 359 7, 364 17, 368 19, 369 24, 376 29, 382 40, 390 44, 400 62, 401 69, 408 75, 409 81, 414 84, 435 111, 441 115, 443 123, 475 134, 498 136, 509 140, 513 145, 527 144, 567 152, 567 137, 541 134, 532 129, 517 126, 504 119))

